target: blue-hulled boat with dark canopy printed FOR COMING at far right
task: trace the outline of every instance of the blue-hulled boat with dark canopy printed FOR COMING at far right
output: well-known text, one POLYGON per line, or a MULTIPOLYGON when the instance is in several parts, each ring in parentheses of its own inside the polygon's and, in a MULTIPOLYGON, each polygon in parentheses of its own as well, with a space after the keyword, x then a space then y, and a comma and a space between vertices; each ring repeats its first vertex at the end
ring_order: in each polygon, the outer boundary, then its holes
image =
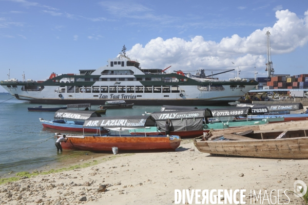
POLYGON ((253 113, 254 119, 263 118, 277 118, 284 117, 284 121, 297 121, 307 120, 308 114, 303 113, 303 105, 301 103, 285 103, 285 104, 271 104, 271 105, 258 105, 258 104, 238 104, 237 107, 250 106, 256 109, 259 106, 266 106, 268 112, 266 113, 253 113), (291 111, 298 112, 297 114, 290 114, 291 111))

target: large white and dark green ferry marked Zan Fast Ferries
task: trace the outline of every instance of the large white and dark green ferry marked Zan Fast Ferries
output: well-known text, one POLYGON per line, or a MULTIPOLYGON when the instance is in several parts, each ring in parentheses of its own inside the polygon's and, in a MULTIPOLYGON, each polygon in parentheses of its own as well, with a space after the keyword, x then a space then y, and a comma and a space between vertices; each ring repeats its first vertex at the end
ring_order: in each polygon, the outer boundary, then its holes
POLYGON ((134 105, 178 106, 227 105, 258 85, 241 78, 226 81, 141 69, 137 60, 126 56, 125 46, 123 51, 97 70, 52 73, 47 80, 3 80, 0 85, 17 99, 37 104, 104 105, 107 100, 125 100, 134 105))

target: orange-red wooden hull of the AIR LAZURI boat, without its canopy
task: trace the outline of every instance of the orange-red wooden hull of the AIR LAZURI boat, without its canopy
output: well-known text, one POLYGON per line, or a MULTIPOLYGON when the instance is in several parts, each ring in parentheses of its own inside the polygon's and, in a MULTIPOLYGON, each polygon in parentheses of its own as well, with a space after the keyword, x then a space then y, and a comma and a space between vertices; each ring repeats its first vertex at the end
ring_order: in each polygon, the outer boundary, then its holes
MULTIPOLYGON (((59 136, 58 136, 59 137, 59 136)), ((84 138, 67 136, 67 142, 62 142, 62 148, 68 150, 107 151, 112 147, 121 151, 154 151, 175 150, 181 144, 181 139, 169 137, 113 137, 113 136, 85 136, 84 138)))

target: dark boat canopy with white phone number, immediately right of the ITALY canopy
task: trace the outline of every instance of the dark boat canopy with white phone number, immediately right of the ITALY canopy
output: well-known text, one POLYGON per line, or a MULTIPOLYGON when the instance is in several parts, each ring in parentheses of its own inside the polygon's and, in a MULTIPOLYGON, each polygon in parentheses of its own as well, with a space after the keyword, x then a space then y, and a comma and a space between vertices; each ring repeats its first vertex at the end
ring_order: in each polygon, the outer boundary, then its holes
POLYGON ((252 109, 250 107, 213 108, 211 112, 213 117, 229 117, 251 114, 252 109))

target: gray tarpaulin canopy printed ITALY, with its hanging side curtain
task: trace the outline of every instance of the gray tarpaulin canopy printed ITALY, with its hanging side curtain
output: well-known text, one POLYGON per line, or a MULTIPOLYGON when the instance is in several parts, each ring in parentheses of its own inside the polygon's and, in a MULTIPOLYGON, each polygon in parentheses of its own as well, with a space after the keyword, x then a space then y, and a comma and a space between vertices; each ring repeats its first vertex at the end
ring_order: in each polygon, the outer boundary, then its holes
POLYGON ((211 117, 209 109, 191 109, 179 111, 153 112, 157 127, 165 131, 166 120, 171 120, 170 131, 203 130, 202 119, 211 117))

